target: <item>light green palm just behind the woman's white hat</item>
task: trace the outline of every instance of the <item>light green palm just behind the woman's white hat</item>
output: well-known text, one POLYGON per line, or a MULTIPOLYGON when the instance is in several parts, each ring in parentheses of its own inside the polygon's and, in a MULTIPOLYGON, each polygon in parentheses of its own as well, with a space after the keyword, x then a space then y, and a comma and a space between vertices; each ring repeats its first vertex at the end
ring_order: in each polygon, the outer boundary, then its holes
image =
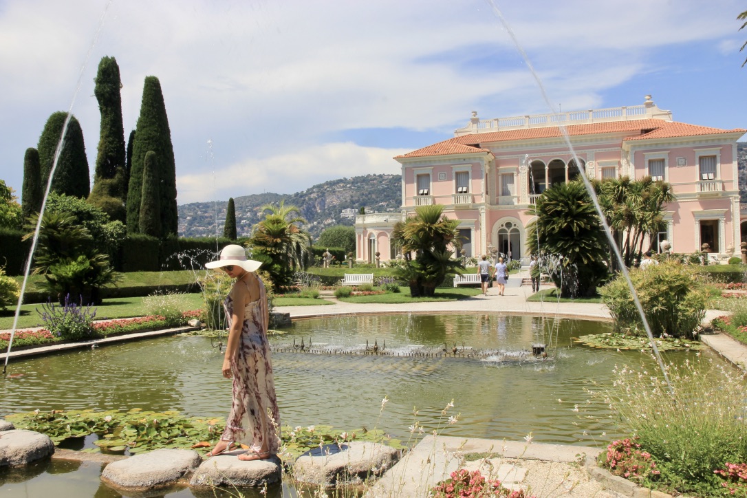
POLYGON ((273 284, 288 284, 296 270, 306 267, 311 237, 301 225, 307 221, 299 208, 286 206, 285 201, 264 205, 261 210, 264 219, 255 225, 249 240, 252 257, 264 263, 262 269, 270 273, 273 284))

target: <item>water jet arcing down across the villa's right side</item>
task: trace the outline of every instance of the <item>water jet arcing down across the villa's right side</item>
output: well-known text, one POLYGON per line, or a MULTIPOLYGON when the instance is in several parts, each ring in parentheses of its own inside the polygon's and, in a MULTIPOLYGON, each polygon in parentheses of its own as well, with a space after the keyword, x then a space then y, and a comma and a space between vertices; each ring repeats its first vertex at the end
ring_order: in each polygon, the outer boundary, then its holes
MULTIPOLYGON (((545 101, 545 105, 547 105, 548 109, 550 110, 550 113, 553 114, 553 116, 558 117, 558 113, 555 112, 554 107, 550 101, 550 98, 548 97, 548 93, 545 91, 545 85, 542 84, 542 80, 539 78, 539 75, 537 75, 537 72, 534 69, 534 66, 532 65, 532 62, 527 55, 527 52, 524 52, 524 49, 521 47, 521 44, 518 43, 518 39, 516 38, 516 35, 514 34, 513 30, 509 26, 509 23, 506 21, 506 18, 503 16, 503 13, 498 8, 498 5, 495 4, 495 0, 486 0, 488 4, 492 7, 493 12, 496 16, 498 16, 498 19, 500 20, 500 24, 503 25, 503 28, 506 30, 506 32, 509 34, 509 37, 511 37, 511 40, 516 47, 517 51, 519 52, 519 55, 524 59, 524 62, 527 63, 527 67, 529 68, 529 71, 532 73, 532 76, 534 78, 534 81, 536 81, 537 87, 539 87, 540 93, 542 93, 542 99, 545 101)), ((586 191, 589 193, 589 197, 591 197, 592 202, 594 204, 594 208, 597 211, 597 214, 599 215, 599 220, 601 222, 602 227, 604 228, 604 234, 607 235, 607 240, 610 242, 610 246, 613 249, 613 252, 615 253, 615 257, 617 258, 618 263, 620 264, 620 273, 622 273, 622 276, 624 276, 625 280, 627 281, 627 287, 630 289, 630 293, 633 296, 633 302, 636 303, 636 309, 638 310, 638 314, 641 317, 641 320, 643 321, 643 327, 646 331, 646 334, 648 335, 648 340, 651 343, 651 349, 654 351, 654 355, 656 356, 657 362, 659 363, 659 367, 661 368, 662 373, 664 374, 664 380, 666 381, 667 387, 669 387, 669 392, 674 394, 675 390, 672 388, 672 384, 669 382, 669 376, 666 373, 666 367, 664 366, 663 359, 661 358, 661 353, 659 352, 659 348, 657 348, 656 340, 654 340, 654 334, 651 332, 651 327, 648 325, 648 320, 646 320, 646 315, 643 312, 643 307, 641 306, 641 302, 638 299, 638 293, 636 293, 636 288, 633 286, 633 281, 630 280, 630 275, 627 272, 627 267, 625 267, 624 261, 622 259, 622 255, 620 254, 620 249, 618 248, 615 238, 613 237, 612 231, 610 230, 610 225, 607 224, 607 219, 604 217, 604 214, 602 213, 601 206, 599 205, 599 199, 597 199, 597 194, 592 187, 592 184, 589 182, 589 178, 586 178, 586 171, 584 171, 584 168, 581 168, 579 165, 580 160, 578 156, 576 155, 576 151, 573 148, 573 145, 571 144, 571 139, 568 137, 568 130, 565 129, 565 126, 562 125, 562 121, 560 119, 556 119, 558 123, 558 129, 560 130, 560 133, 562 134, 563 140, 565 140, 565 144, 568 146, 568 149, 571 151, 571 155, 573 156, 573 160, 576 163, 578 173, 580 177, 583 179, 583 184, 586 187, 586 191)))

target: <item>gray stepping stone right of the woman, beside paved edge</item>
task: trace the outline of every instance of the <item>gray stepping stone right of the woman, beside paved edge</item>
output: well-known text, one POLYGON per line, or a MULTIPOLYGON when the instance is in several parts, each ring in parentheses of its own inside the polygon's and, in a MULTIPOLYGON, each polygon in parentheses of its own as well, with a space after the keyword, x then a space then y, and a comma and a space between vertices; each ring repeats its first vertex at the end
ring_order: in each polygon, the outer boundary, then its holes
POLYGON ((397 449, 379 443, 328 444, 298 457, 293 473, 297 480, 311 485, 356 484, 381 476, 397 462, 399 455, 397 449))

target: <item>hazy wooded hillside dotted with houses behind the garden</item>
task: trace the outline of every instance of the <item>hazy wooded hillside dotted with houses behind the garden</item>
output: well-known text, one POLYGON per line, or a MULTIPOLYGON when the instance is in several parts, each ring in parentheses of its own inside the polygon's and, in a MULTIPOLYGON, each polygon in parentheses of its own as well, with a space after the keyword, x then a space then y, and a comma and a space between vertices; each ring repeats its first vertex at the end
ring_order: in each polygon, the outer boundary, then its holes
MULTIPOLYGON (((248 236, 252 225, 260 220, 261 206, 285 200, 286 205, 300 208, 303 217, 309 220, 306 228, 315 240, 324 228, 355 223, 354 216, 343 216, 345 209, 353 210, 354 214, 362 207, 367 213, 399 211, 401 187, 400 175, 365 175, 325 181, 289 195, 261 193, 235 197, 237 232, 240 237, 248 236)), ((179 236, 207 237, 216 232, 222 235, 227 205, 228 199, 179 206, 179 236)))

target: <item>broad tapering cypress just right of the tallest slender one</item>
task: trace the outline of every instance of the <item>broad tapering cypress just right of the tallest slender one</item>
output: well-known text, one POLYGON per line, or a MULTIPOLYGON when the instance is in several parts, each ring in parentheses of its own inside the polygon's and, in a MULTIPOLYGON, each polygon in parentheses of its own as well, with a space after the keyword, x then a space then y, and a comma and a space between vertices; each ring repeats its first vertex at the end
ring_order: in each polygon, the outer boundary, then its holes
POLYGON ((137 232, 140 220, 140 200, 143 189, 145 155, 153 151, 158 155, 158 187, 161 199, 161 230, 165 235, 177 235, 179 217, 176 212, 176 164, 171 144, 169 119, 166 115, 161 83, 155 76, 146 76, 143 102, 137 119, 132 146, 132 167, 127 196, 127 230, 137 232))

